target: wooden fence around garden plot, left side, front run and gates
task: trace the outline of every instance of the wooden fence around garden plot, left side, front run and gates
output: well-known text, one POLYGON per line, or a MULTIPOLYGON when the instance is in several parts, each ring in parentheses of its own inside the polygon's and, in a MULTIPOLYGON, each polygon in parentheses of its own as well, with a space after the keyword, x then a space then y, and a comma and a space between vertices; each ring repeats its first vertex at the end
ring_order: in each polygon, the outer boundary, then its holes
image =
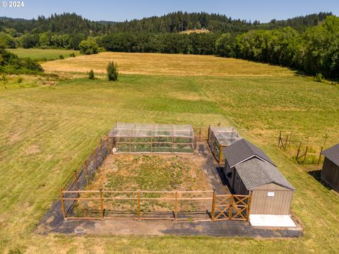
MULTIPOLYGON (((196 130, 197 142, 208 139, 208 128, 196 130)), ((60 188, 64 219, 249 219, 249 195, 216 195, 215 191, 85 190, 113 146, 114 140, 108 135, 101 138, 81 167, 60 188), (145 202, 152 203, 145 206, 145 202)))

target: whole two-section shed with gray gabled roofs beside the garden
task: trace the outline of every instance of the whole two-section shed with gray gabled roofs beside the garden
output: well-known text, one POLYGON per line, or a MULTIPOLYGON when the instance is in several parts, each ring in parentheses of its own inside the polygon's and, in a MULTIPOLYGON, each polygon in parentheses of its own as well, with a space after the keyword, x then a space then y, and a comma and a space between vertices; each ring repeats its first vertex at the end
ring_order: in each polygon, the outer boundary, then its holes
POLYGON ((225 151, 224 172, 235 194, 252 194, 251 214, 290 214, 295 188, 270 158, 247 140, 225 151))

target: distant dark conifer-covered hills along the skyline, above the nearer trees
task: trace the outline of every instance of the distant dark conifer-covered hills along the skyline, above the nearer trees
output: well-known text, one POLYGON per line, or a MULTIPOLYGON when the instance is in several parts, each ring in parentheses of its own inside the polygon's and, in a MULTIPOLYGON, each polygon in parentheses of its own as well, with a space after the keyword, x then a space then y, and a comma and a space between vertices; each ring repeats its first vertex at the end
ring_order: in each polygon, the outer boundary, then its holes
POLYGON ((290 26, 302 31, 309 26, 317 25, 332 13, 317 13, 299 16, 287 20, 271 20, 269 23, 253 22, 248 20, 232 19, 215 13, 183 13, 182 11, 169 13, 164 16, 153 16, 141 20, 124 22, 91 21, 76 13, 52 14, 49 18, 39 16, 37 19, 25 20, 22 18, 0 17, 0 31, 13 30, 14 37, 25 32, 41 32, 102 35, 107 32, 183 32, 186 30, 206 29, 210 32, 248 32, 254 29, 274 29, 290 26))

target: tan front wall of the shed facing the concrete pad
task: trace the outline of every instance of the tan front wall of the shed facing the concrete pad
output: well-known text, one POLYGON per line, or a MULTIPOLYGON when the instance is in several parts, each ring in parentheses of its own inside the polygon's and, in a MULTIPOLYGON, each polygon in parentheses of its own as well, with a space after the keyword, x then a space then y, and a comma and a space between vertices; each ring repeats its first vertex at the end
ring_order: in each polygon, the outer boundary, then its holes
POLYGON ((293 191, 269 183, 252 191, 251 214, 290 214, 293 191), (268 197, 274 192, 274 197, 268 197))

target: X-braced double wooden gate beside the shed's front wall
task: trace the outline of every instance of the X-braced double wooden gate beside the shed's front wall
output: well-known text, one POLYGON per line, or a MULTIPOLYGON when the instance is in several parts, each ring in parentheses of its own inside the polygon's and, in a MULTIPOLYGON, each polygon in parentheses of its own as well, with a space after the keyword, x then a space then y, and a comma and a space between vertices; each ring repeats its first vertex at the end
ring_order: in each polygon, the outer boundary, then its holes
POLYGON ((213 220, 249 220, 251 195, 215 195, 213 220))

